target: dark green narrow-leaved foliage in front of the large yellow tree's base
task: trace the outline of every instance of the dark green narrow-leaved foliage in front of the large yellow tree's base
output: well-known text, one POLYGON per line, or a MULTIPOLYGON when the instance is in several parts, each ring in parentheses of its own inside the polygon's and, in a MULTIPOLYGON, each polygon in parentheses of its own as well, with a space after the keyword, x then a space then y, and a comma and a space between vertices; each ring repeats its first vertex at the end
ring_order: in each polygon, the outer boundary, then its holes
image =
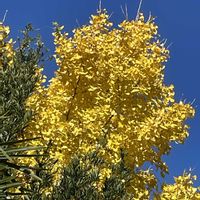
POLYGON ((64 169, 61 183, 55 188, 52 199, 117 200, 130 199, 126 187, 131 179, 131 171, 126 169, 123 160, 112 166, 112 174, 99 191, 95 184, 100 179, 100 169, 106 166, 105 160, 92 152, 85 156, 75 156, 64 169))

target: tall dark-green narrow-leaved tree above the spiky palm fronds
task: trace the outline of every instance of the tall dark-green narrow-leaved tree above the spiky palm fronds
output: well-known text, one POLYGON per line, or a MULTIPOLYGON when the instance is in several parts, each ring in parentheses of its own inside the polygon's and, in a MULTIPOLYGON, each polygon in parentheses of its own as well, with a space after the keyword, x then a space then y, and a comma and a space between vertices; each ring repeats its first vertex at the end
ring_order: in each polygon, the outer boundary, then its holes
POLYGON ((40 77, 35 76, 43 59, 44 48, 39 38, 31 38, 28 25, 23 39, 18 39, 13 66, 6 58, 0 69, 0 141, 11 141, 21 133, 32 113, 25 109, 25 101, 32 94, 40 77), (35 43, 35 44, 34 44, 35 43), (34 44, 35 48, 32 46, 34 44))

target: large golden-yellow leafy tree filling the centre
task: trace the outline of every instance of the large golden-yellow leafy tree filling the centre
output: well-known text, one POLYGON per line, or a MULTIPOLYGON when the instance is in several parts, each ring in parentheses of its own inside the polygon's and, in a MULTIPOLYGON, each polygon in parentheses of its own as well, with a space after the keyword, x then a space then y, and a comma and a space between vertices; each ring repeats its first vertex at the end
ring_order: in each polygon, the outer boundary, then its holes
POLYGON ((144 165, 164 176, 168 167, 162 156, 172 142, 184 142, 185 120, 194 116, 190 104, 175 102, 174 86, 164 83, 169 51, 158 27, 143 14, 113 27, 100 10, 72 37, 63 28, 55 24, 53 33, 59 68, 49 85, 40 85, 28 99, 35 115, 24 135, 42 137, 43 145, 51 141, 58 174, 73 155, 98 149, 107 163, 100 169, 99 191, 123 152, 125 166, 134 170, 128 190, 134 199, 149 199, 156 177, 144 165))

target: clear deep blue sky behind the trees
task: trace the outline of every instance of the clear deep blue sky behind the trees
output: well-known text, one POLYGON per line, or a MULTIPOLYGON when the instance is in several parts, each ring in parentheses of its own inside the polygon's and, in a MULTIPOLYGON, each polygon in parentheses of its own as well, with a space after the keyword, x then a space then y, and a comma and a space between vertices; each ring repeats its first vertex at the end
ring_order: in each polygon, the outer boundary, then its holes
MULTIPOLYGON (((109 13, 111 20, 117 24, 124 19, 121 6, 128 7, 129 18, 135 18, 139 0, 102 0, 102 5, 109 13)), ((42 39, 53 53, 52 22, 65 25, 65 31, 71 32, 79 25, 88 23, 90 14, 94 14, 98 0, 1 0, 0 19, 8 10, 5 24, 11 28, 11 36, 19 36, 19 30, 27 23, 40 29, 42 39)), ((175 85, 176 99, 192 102, 196 99, 196 116, 189 120, 190 137, 184 145, 175 145, 170 156, 166 157, 170 175, 182 174, 190 167, 199 176, 200 184, 200 1, 199 0, 143 0, 142 11, 146 17, 149 12, 156 16, 159 33, 168 40, 170 55, 166 64, 166 83, 175 85)), ((47 63, 45 74, 53 76, 57 69, 55 63, 47 63)))

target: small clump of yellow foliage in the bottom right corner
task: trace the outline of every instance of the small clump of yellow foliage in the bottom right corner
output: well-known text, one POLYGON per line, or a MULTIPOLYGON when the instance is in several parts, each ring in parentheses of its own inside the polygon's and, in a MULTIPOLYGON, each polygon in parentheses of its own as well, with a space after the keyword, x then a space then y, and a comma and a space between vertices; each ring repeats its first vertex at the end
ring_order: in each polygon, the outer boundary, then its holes
POLYGON ((160 200, 199 200, 200 190, 193 186, 193 181, 196 180, 196 176, 192 176, 190 173, 184 173, 175 179, 173 185, 165 185, 163 192, 160 196, 160 200))

